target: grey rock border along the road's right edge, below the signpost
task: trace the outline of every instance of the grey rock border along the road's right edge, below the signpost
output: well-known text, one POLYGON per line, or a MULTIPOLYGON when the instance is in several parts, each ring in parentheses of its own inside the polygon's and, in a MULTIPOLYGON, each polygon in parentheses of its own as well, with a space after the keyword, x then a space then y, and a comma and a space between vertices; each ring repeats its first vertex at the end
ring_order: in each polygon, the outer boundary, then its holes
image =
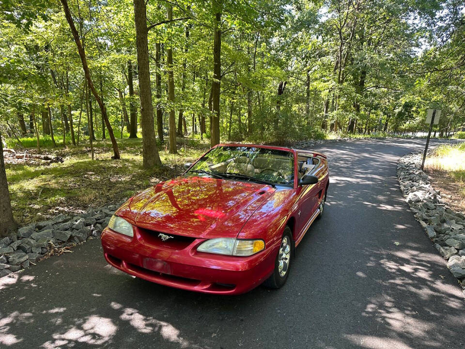
POLYGON ((405 200, 434 247, 446 259, 450 272, 465 286, 465 215, 441 199, 428 175, 420 169, 422 156, 408 154, 397 163, 397 177, 405 200))

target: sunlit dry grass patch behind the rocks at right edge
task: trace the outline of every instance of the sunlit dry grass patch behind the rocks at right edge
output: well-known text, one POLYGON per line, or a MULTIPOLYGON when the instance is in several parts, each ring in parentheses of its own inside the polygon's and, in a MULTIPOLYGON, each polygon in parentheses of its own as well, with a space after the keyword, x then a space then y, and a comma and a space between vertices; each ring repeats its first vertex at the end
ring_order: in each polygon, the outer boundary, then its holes
POLYGON ((465 213, 465 143, 439 146, 426 159, 425 169, 450 208, 465 213))

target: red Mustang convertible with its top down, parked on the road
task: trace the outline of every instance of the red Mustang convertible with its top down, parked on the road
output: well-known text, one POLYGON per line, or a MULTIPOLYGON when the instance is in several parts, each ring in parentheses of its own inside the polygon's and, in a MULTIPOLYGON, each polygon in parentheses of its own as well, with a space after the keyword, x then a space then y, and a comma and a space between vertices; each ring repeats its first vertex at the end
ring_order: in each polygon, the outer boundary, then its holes
POLYGON ((240 294, 279 288, 294 249, 323 214, 322 154, 219 144, 180 177, 131 197, 102 233, 113 267, 157 284, 240 294))

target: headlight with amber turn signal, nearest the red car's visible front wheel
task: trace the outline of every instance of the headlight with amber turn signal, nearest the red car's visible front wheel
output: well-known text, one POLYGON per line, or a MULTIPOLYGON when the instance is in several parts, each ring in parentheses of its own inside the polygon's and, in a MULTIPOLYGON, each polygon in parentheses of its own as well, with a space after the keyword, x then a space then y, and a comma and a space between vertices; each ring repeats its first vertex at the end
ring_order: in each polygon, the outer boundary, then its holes
POLYGON ((197 251, 213 254, 249 256, 264 250, 263 240, 239 240, 235 238, 214 238, 204 241, 197 251))

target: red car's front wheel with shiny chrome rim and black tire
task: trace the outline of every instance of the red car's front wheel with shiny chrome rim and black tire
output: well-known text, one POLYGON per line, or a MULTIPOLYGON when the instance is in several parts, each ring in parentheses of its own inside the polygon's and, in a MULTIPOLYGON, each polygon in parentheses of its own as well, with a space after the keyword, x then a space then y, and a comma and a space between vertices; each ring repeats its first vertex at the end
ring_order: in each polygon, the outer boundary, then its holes
POLYGON ((293 252, 294 251, 293 251, 292 231, 291 231, 291 228, 286 226, 282 234, 281 245, 279 246, 279 252, 275 259, 275 269, 273 270, 273 274, 271 274, 271 276, 263 283, 264 286, 269 287, 269 288, 279 288, 286 283, 287 277, 289 276, 289 270, 291 269, 293 252), (287 241, 285 242, 285 240, 287 241), (283 247, 283 243, 285 243, 286 246, 283 247), (282 250, 283 248, 284 248, 284 251, 282 250), (282 254, 282 252, 284 252, 285 254, 282 254), (286 263, 286 259, 287 259, 287 263, 286 263), (282 262, 281 267, 280 267, 280 262, 282 262), (285 269, 284 275, 282 275, 284 266, 286 269, 285 269))

